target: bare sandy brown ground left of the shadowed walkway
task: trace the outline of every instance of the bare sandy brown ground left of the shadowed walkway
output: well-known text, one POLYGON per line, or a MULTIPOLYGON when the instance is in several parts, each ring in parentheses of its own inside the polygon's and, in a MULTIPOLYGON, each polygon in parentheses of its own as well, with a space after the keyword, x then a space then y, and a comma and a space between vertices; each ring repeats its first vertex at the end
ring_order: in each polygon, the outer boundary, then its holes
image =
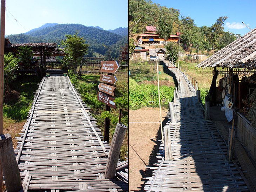
MULTIPOLYGON (((162 121, 167 110, 161 110, 162 121)), ((159 108, 129 110, 129 191, 144 191, 144 177, 151 177, 152 171, 145 166, 157 163, 156 153, 161 140, 159 108)), ((163 125, 164 126, 164 125, 163 125)))

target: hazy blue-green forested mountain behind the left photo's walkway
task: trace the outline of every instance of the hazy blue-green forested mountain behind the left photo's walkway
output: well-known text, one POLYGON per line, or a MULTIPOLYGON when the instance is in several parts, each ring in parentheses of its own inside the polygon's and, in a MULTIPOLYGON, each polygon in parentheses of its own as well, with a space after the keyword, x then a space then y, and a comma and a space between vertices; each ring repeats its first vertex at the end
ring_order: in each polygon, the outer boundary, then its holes
MULTIPOLYGON (((43 26, 42 26, 43 27, 43 26)), ((50 27, 43 27, 38 30, 30 31, 29 35, 17 34, 8 35, 6 38, 11 43, 28 43, 28 42, 48 42, 60 44, 61 40, 66 39, 66 34, 83 37, 89 44, 88 54, 94 56, 94 52, 105 55, 108 59, 117 59, 121 47, 128 43, 128 36, 121 36, 95 27, 87 27, 80 24, 58 24, 50 27)))

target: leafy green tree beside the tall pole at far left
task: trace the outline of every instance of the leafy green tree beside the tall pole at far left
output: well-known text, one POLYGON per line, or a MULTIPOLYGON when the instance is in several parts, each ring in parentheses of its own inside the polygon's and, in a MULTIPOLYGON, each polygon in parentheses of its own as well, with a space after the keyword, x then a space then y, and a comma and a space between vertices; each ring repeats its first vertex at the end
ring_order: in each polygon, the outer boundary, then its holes
POLYGON ((15 70, 19 66, 19 59, 14 57, 14 55, 9 52, 4 55, 4 83, 6 89, 12 95, 11 88, 9 87, 9 81, 13 81, 16 79, 15 70))

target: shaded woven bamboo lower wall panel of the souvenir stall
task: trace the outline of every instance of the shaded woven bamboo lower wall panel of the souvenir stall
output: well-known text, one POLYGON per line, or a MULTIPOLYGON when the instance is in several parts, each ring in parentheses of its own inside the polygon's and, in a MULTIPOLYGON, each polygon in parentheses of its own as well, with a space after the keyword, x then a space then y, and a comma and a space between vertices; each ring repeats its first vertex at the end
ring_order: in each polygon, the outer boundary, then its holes
POLYGON ((256 129, 245 121, 240 114, 237 116, 237 138, 256 161, 256 129))

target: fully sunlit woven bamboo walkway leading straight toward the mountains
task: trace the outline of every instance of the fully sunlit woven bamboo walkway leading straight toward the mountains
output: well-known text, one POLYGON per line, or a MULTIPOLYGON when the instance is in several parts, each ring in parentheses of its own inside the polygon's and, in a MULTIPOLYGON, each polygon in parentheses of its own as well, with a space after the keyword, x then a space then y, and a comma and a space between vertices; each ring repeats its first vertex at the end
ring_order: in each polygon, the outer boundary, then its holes
POLYGON ((127 182, 105 179, 109 144, 101 141, 88 110, 68 77, 43 78, 17 138, 15 153, 24 191, 128 190, 127 182))

